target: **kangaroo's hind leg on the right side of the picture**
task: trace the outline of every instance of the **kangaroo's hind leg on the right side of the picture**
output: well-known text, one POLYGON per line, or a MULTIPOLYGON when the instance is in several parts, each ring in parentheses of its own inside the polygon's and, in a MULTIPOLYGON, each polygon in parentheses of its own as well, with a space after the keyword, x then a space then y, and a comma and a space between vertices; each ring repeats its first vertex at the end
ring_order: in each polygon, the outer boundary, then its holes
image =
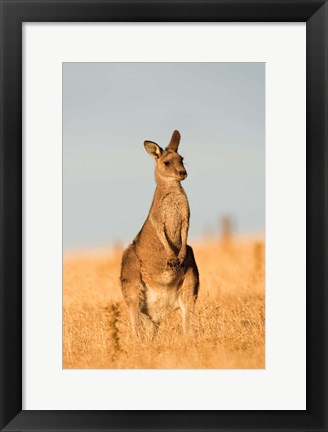
POLYGON ((193 250, 187 246, 185 260, 185 274, 179 290, 179 306, 181 310, 183 331, 187 335, 193 334, 193 318, 195 303, 199 290, 199 273, 193 250))

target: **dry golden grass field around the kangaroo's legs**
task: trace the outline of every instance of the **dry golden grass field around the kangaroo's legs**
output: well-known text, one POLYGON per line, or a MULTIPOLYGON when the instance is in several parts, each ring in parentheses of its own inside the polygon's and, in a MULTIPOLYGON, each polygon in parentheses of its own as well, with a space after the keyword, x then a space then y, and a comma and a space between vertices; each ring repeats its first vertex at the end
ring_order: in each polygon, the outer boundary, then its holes
POLYGON ((153 340, 134 340, 119 283, 121 251, 66 257, 63 367, 264 368, 263 240, 192 246, 200 273, 193 338, 182 334, 177 311, 153 340))

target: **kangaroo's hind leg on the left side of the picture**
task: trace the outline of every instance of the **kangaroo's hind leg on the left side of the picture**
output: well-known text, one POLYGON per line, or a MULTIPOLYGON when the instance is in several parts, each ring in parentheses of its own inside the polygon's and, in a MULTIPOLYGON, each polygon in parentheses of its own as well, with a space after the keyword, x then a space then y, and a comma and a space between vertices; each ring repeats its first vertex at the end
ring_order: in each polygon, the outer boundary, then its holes
POLYGON ((132 332, 137 336, 140 330, 139 309, 143 300, 143 283, 140 262, 132 244, 123 252, 120 280, 123 297, 128 306, 132 332))

